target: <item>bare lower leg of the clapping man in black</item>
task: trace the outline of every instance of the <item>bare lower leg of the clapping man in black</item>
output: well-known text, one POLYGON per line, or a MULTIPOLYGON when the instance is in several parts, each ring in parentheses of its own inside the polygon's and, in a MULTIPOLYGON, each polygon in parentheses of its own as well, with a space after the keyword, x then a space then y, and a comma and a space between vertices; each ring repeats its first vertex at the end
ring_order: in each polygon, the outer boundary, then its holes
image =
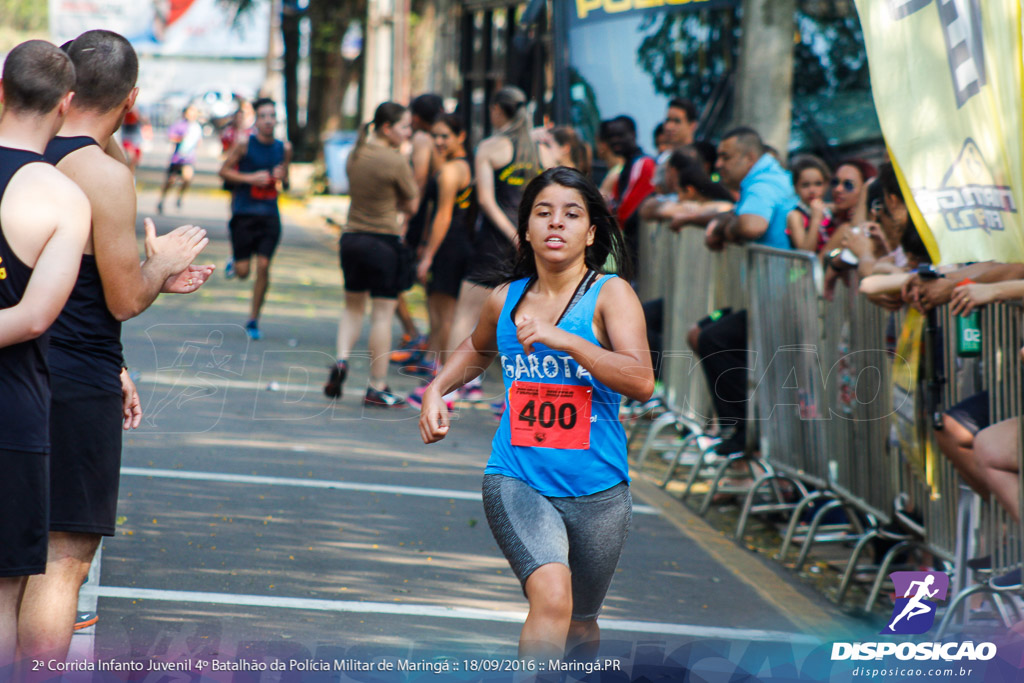
POLYGON ((78 592, 99 547, 94 533, 50 531, 46 573, 29 578, 17 642, 22 657, 63 660, 78 613, 78 592))

